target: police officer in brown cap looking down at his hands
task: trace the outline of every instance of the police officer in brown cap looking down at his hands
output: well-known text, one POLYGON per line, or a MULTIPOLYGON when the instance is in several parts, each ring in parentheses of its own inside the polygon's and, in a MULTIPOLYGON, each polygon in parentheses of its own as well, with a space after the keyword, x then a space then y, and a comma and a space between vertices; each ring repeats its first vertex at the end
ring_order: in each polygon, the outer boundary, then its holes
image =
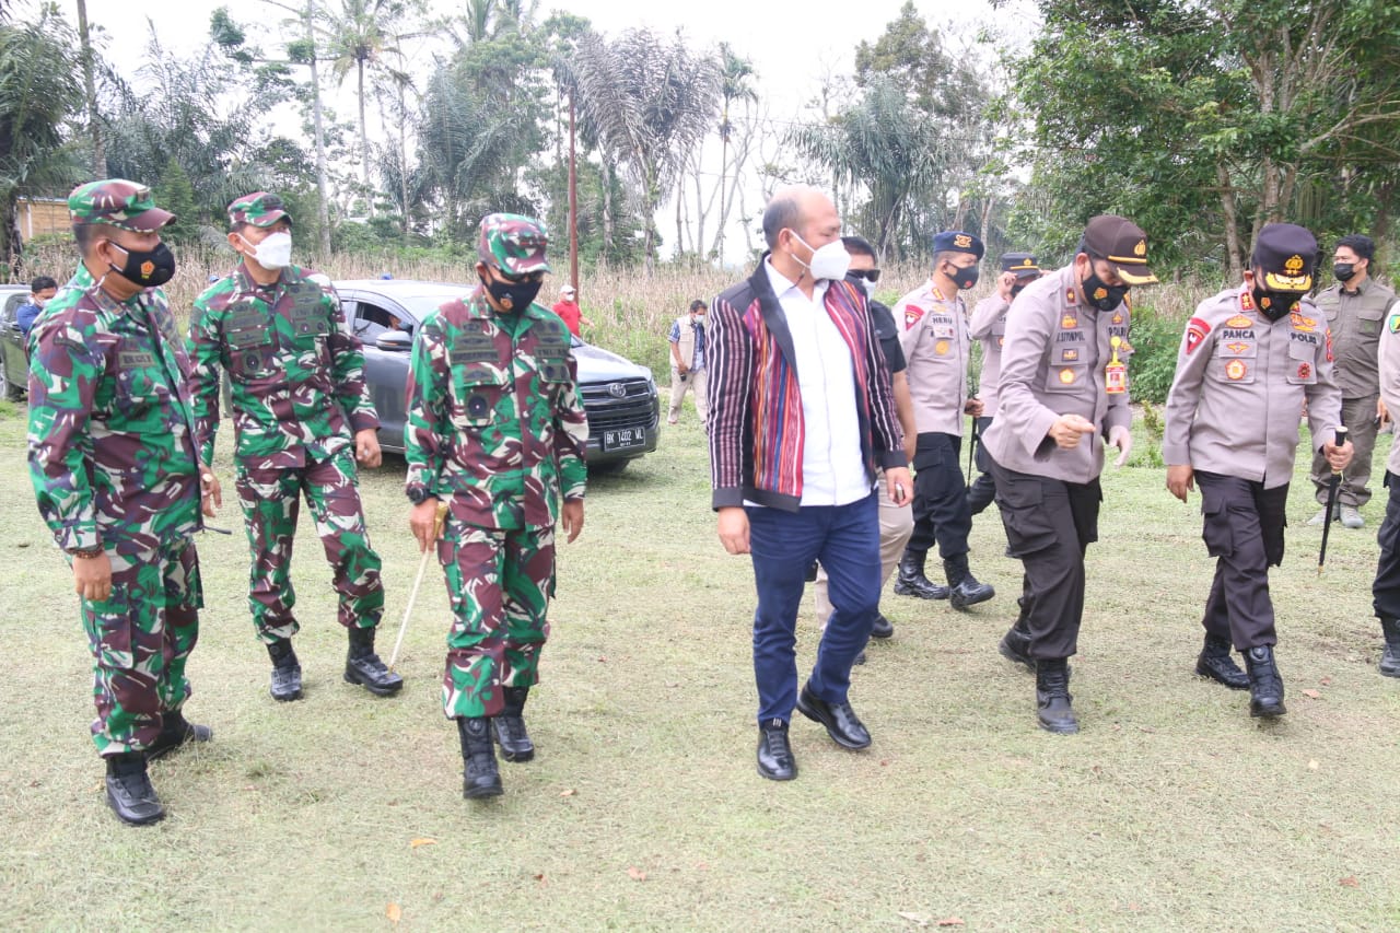
POLYGON ((1007 315, 997 419, 983 441, 1008 551, 1025 567, 1002 653, 1035 665, 1037 719, 1053 733, 1079 731, 1067 660, 1084 618, 1084 555, 1099 539, 1103 437, 1119 465, 1133 448, 1124 298, 1154 282, 1147 235, 1103 214, 1074 261, 1026 286, 1007 315))

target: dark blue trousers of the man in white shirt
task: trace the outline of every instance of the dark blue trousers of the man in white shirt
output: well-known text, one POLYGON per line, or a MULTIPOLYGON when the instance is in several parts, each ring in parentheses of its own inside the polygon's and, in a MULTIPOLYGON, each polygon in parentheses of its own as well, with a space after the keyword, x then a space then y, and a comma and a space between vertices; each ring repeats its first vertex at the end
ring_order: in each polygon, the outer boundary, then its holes
POLYGON ((879 504, 875 493, 847 506, 795 513, 748 507, 749 549, 759 608, 753 614, 753 677, 759 721, 787 721, 797 706, 797 614, 806 569, 827 573, 832 616, 809 684, 827 703, 844 703, 851 664, 869 640, 879 607, 879 504))

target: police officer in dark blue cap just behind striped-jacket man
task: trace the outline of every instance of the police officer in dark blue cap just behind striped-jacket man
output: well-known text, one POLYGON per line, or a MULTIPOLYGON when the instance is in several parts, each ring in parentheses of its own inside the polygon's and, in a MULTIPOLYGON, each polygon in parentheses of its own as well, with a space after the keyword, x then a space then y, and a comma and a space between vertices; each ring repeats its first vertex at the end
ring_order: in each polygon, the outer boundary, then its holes
POLYGON ((904 331, 899 336, 909 366, 918 444, 914 452, 914 534, 899 562, 895 593, 924 600, 949 598, 966 609, 995 595, 967 567, 972 511, 958 468, 963 413, 977 417, 981 401, 967 395, 967 305, 959 291, 977 284, 983 247, 977 237, 946 230, 934 237, 934 275, 895 305, 904 331), (938 542, 948 587, 924 576, 928 549, 938 542))

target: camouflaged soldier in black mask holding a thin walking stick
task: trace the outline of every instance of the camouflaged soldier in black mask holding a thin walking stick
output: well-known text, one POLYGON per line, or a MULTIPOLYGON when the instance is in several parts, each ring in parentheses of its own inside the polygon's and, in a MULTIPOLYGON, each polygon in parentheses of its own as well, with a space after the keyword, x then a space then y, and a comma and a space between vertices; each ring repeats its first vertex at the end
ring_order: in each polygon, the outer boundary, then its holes
POLYGON ((588 420, 568 331, 532 304, 546 242, 536 220, 484 217, 480 284, 423 322, 409 370, 405 492, 424 551, 438 500, 449 507, 437 542, 454 615, 442 706, 469 799, 501 793, 493 731, 505 761, 535 755, 524 707, 549 636, 554 524, 568 541, 584 527, 588 420))

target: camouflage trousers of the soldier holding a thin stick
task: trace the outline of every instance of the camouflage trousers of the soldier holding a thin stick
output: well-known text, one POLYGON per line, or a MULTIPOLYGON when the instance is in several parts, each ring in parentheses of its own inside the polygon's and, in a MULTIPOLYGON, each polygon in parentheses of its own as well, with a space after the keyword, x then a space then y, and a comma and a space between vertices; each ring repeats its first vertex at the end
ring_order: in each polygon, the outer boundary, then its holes
POLYGON ((554 530, 477 528, 448 520, 438 541, 452 630, 447 636, 442 710, 496 716, 504 686, 539 682, 545 614, 554 594, 554 530))

